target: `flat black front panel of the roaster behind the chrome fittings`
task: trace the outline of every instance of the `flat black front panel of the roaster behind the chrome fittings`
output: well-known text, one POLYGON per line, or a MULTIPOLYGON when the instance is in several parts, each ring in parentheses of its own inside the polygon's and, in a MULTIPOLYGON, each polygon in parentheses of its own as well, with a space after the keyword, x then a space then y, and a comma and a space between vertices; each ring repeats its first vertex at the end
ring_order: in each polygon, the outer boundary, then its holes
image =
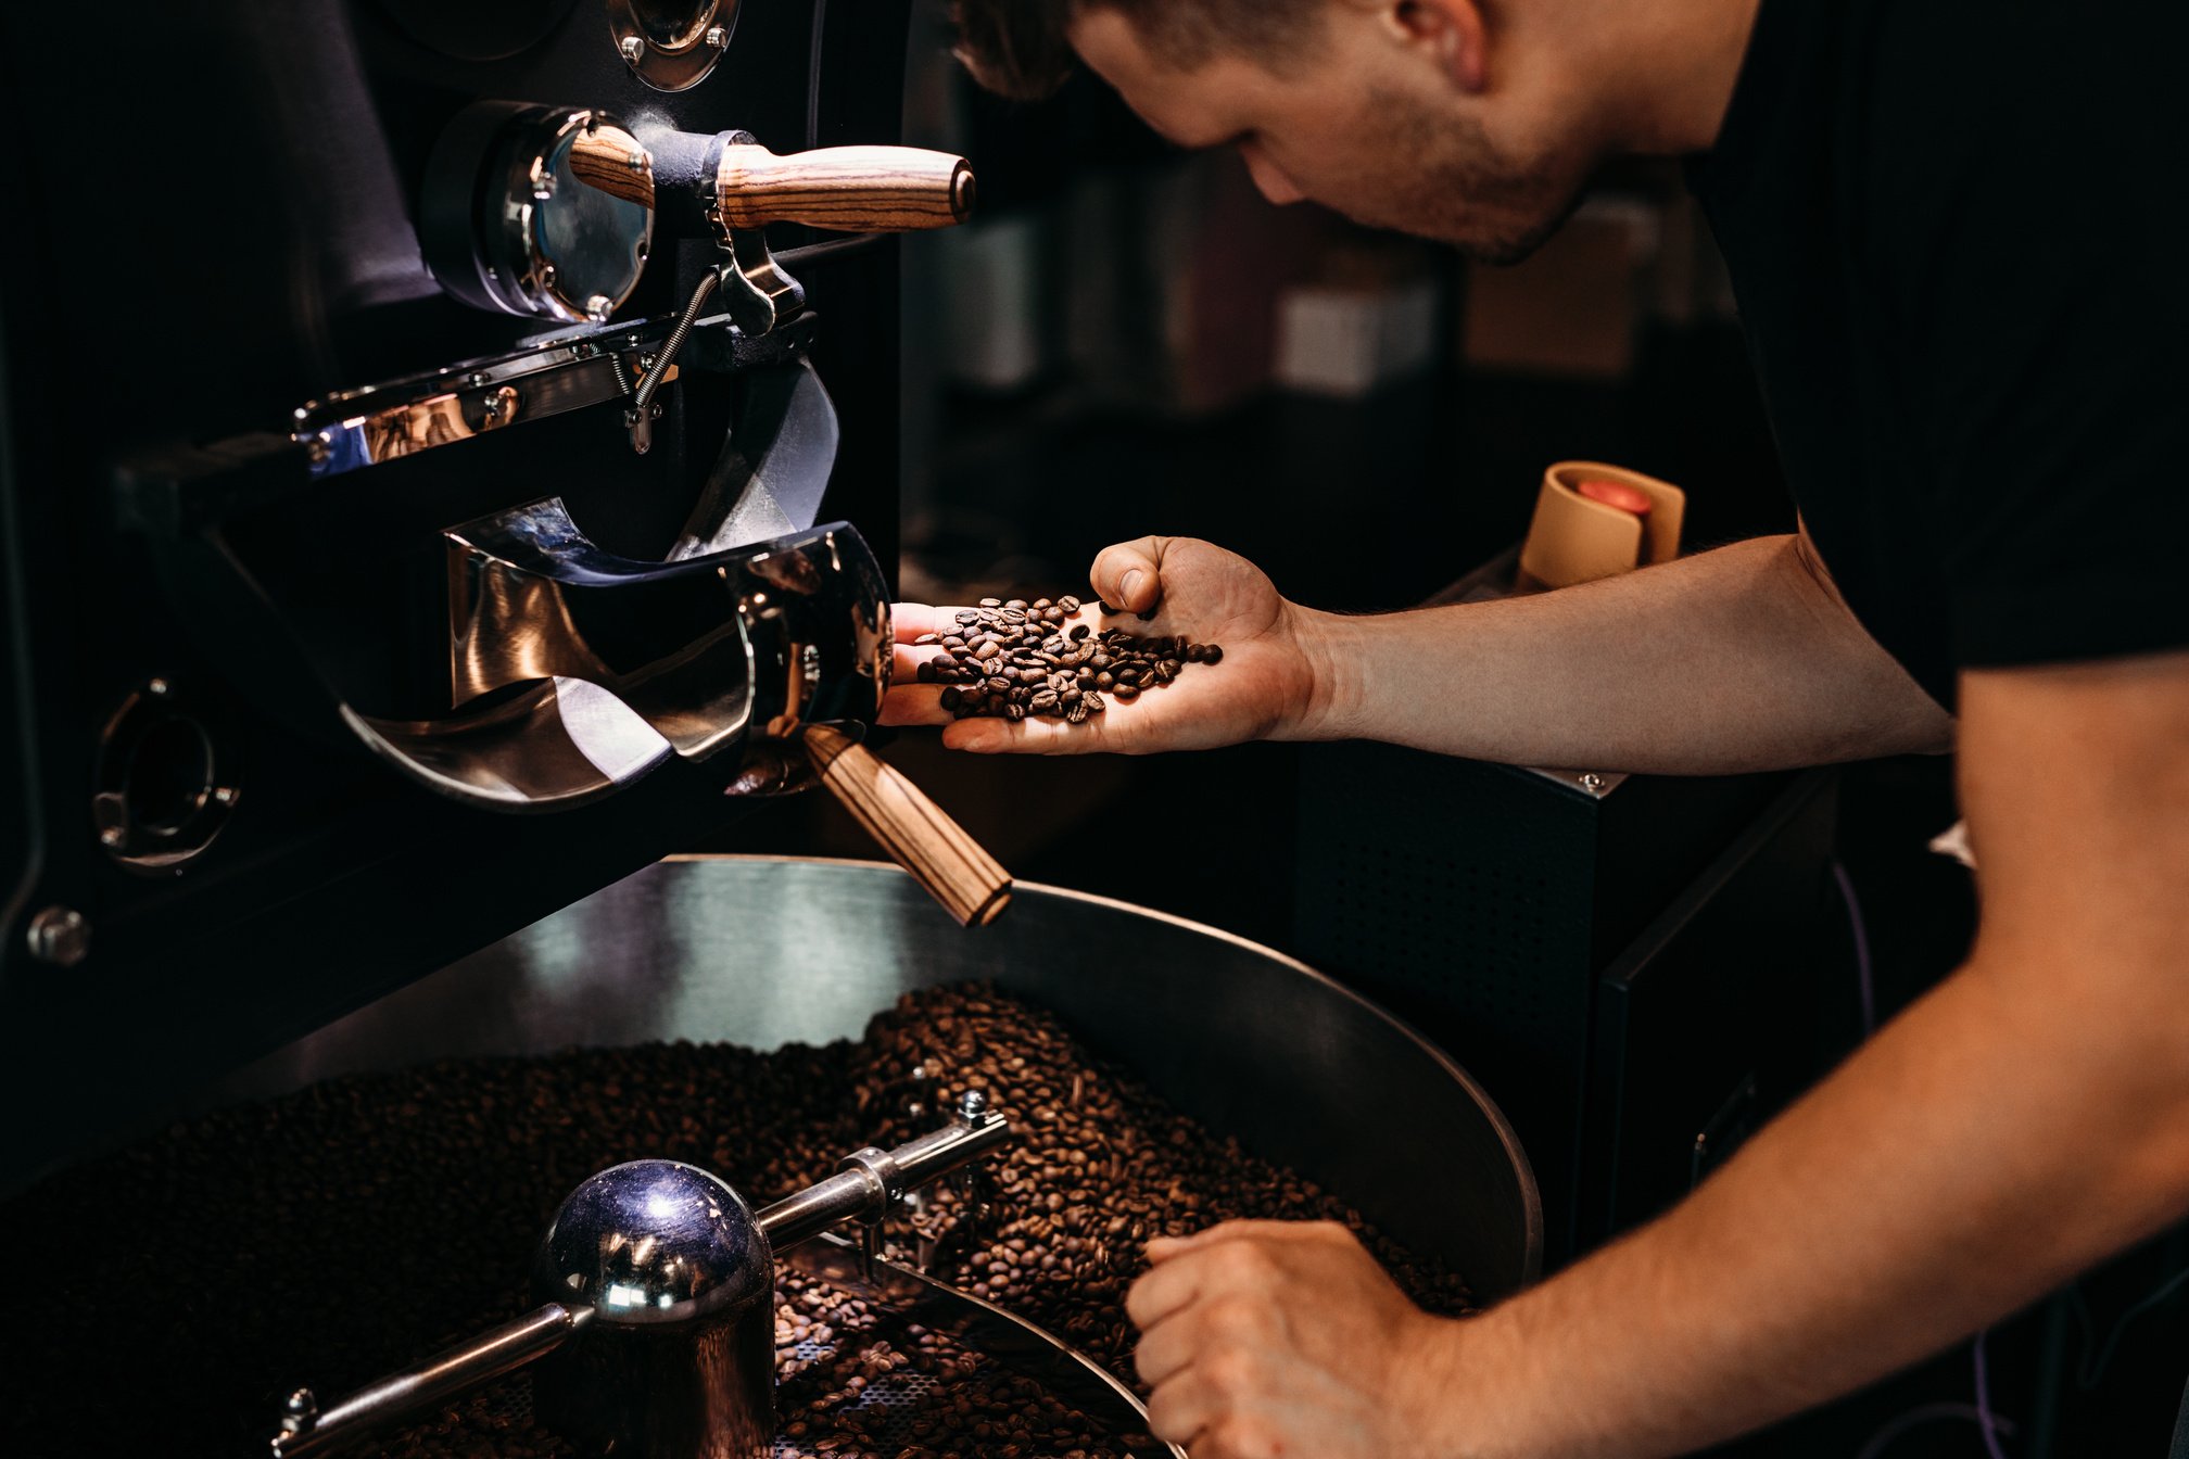
MULTIPOLYGON (((449 709, 460 523, 560 499, 602 549, 663 558, 757 409, 746 376, 687 367, 646 455, 622 398, 488 429, 464 372, 451 420, 477 440, 366 470, 315 470, 296 411, 545 339, 637 363, 619 341, 659 339, 722 256, 657 236, 604 324, 451 297, 420 188, 466 107, 884 144, 906 42, 902 4, 195 0, 125 4, 66 61, 35 20, 0 13, 7 94, 53 129, 0 227, 11 1179, 760 803, 670 757, 580 809, 499 816, 398 774, 341 715, 449 709), (655 26, 644 63, 615 31, 633 15, 655 26), (663 57, 705 74, 657 90, 637 72, 663 57)), ((792 348, 841 418, 823 521, 893 571, 895 247, 827 238, 766 230, 810 304, 792 348)))

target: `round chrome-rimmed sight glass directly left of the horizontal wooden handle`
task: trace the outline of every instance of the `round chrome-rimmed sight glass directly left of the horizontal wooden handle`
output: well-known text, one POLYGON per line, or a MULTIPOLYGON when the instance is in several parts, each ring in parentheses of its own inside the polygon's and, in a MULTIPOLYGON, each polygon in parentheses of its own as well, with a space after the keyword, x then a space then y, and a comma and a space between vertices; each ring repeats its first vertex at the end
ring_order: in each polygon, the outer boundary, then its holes
POLYGON ((652 157, 606 112, 482 101, 433 149, 418 234, 466 304, 598 324, 652 249, 652 157))

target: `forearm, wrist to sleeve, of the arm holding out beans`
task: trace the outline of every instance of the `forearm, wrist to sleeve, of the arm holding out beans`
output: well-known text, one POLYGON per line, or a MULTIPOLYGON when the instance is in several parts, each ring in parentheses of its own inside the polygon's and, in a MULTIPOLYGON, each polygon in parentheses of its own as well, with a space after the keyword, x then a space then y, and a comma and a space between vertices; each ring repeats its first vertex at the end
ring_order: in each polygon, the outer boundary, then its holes
POLYGON ((1953 722, 1797 538, 1497 604, 1316 621, 1311 733, 1524 766, 1729 774, 1946 748, 1953 722))

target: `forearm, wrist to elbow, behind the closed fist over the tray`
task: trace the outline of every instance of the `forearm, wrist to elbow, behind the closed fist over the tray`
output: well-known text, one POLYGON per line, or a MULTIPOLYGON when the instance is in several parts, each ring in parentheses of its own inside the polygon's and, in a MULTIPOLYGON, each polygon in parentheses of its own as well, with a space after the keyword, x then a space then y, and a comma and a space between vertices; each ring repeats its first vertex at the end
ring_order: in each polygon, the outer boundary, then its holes
POLYGON ((1688 1452, 2180 1218, 2189 1078, 2156 1046, 2180 1019, 2139 1032, 2152 1019, 2132 1004, 2084 1013, 1964 969, 1672 1214, 1456 1328, 1445 1452, 1688 1452))

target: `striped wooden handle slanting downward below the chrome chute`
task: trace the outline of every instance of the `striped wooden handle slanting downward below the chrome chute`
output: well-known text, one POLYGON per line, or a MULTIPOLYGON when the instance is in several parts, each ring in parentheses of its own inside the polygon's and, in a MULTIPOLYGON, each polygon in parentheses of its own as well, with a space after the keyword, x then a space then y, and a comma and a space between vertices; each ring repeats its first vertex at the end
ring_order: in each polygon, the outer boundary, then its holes
POLYGON ((821 783, 961 927, 985 927, 1011 903, 1011 873, 873 750, 808 724, 806 752, 821 783))

